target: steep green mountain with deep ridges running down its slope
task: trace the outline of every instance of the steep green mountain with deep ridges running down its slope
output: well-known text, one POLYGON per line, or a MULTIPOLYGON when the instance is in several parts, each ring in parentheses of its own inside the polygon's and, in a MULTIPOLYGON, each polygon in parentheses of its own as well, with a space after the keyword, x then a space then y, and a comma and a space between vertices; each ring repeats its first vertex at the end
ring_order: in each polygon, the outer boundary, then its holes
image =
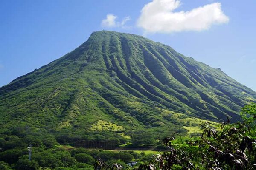
POLYGON ((192 134, 239 119, 256 92, 221 69, 142 36, 93 32, 74 51, 0 88, 0 133, 15 127, 87 139, 192 134))

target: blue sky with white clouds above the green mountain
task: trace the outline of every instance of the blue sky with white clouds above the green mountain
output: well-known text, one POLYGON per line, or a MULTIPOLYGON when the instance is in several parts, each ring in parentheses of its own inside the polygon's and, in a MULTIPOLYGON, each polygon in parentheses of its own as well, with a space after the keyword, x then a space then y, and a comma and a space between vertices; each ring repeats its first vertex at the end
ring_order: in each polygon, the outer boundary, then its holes
POLYGON ((256 91, 255 0, 152 1, 1 0, 0 86, 67 54, 93 31, 105 29, 170 45, 256 91), (158 10, 160 1, 169 9, 158 10), (146 4, 148 8, 143 8, 146 4))

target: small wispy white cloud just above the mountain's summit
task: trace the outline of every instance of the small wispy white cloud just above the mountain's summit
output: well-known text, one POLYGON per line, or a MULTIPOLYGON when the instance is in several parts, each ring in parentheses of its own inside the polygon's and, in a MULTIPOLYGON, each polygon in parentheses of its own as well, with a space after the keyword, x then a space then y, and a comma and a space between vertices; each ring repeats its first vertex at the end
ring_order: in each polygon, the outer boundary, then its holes
POLYGON ((121 22, 117 22, 116 19, 118 17, 114 14, 107 14, 106 16, 106 19, 102 20, 102 27, 122 27, 122 28, 125 28, 125 23, 128 21, 128 20, 131 20, 131 18, 128 16, 128 17, 125 17, 121 22))

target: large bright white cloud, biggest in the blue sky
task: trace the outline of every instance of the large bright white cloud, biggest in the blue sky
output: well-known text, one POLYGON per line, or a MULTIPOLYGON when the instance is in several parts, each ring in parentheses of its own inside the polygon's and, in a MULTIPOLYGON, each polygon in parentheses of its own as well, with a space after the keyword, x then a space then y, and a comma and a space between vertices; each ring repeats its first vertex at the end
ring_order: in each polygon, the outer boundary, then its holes
POLYGON ((137 26, 147 33, 172 33, 202 31, 213 24, 229 21, 221 10, 221 3, 211 3, 191 11, 174 12, 180 5, 180 0, 153 0, 142 8, 137 26))

